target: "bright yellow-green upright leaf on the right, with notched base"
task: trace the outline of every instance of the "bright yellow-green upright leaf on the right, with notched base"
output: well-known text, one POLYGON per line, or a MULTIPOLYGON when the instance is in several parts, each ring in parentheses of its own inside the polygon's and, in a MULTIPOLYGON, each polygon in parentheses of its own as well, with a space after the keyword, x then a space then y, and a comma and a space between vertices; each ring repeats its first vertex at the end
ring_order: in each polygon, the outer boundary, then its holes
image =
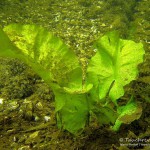
POLYGON ((94 84, 92 95, 95 100, 101 100, 110 90, 109 97, 116 103, 124 95, 123 86, 138 74, 137 65, 143 61, 143 45, 119 39, 116 32, 110 32, 98 39, 95 47, 97 53, 87 70, 88 82, 94 84), (95 91, 99 92, 99 96, 95 91))

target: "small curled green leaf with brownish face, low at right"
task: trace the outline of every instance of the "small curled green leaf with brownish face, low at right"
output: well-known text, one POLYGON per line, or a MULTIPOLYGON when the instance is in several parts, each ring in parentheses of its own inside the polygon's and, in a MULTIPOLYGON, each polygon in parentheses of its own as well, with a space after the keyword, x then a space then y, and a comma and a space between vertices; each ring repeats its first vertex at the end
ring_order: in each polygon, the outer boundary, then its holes
POLYGON ((139 119, 142 114, 142 107, 131 97, 125 106, 118 107, 118 114, 115 125, 112 127, 114 131, 118 131, 122 123, 130 124, 132 121, 139 119))

